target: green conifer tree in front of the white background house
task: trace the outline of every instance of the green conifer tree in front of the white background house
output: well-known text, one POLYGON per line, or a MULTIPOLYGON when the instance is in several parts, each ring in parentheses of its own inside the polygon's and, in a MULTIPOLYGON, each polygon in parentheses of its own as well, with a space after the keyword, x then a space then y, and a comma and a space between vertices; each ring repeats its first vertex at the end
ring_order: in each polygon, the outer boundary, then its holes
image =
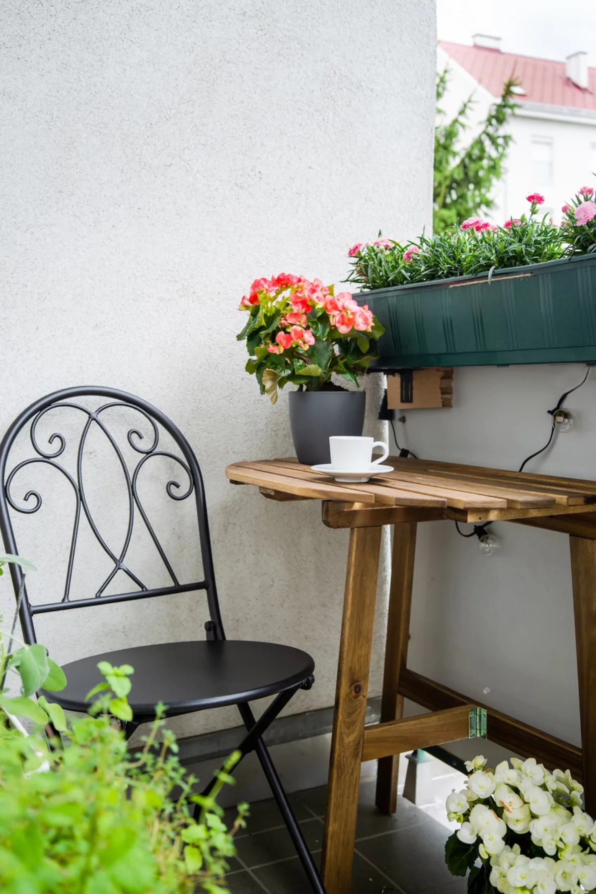
POLYGON ((462 148, 468 129, 473 97, 459 107, 457 115, 445 122, 441 99, 449 79, 448 69, 437 76, 437 123, 434 133, 434 177, 432 188, 432 226, 434 232, 461 223, 473 214, 486 214, 493 207, 491 190, 502 173, 511 135, 502 129, 516 109, 513 90, 516 80, 503 85, 499 102, 491 105, 481 131, 462 148))

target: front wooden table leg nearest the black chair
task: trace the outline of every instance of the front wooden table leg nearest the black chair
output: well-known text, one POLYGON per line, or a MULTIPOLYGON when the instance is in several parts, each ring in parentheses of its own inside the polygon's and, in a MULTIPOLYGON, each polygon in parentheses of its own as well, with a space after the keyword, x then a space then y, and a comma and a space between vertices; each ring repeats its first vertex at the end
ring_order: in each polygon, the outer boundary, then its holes
POLYGON ((348 894, 352 876, 381 535, 382 527, 349 532, 323 838, 327 894, 348 894))

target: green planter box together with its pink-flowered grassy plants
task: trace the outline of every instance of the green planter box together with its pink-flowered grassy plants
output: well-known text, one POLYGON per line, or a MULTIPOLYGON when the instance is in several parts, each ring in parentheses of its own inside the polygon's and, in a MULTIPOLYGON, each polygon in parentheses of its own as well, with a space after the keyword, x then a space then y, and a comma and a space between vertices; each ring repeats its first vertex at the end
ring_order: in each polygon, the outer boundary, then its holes
POLYGON ((358 243, 348 282, 386 328, 374 368, 596 361, 596 203, 583 187, 560 226, 539 214, 469 218, 400 245, 358 243))

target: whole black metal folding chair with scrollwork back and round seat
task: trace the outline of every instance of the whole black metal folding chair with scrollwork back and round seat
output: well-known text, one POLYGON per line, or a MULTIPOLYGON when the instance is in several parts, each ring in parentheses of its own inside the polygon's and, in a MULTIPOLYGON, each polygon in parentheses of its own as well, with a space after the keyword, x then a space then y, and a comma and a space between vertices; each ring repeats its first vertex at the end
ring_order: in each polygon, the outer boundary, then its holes
MULTIPOLYGON (((97 451, 95 456, 97 459, 97 451)), ((59 693, 45 693, 46 698, 62 704, 67 710, 86 711, 85 696, 98 681, 97 662, 105 660, 114 665, 128 663, 134 668, 133 687, 129 698, 133 719, 126 724, 127 736, 130 736, 140 723, 153 719, 155 704, 158 701, 167 706, 167 716, 170 717, 222 705, 237 705, 247 728, 247 736, 239 743, 239 750, 243 756, 250 751, 256 751, 312 889, 317 894, 324 894, 315 862, 306 847, 306 841, 262 738, 264 730, 284 705, 288 704, 294 693, 300 688, 308 689, 312 686, 315 662, 306 652, 287 645, 225 638, 215 588, 203 480, 197 458, 189 442, 158 409, 138 397, 110 388, 68 388, 48 394, 31 404, 14 420, 0 444, 2 481, 0 531, 6 552, 18 552, 13 520, 16 521, 17 516, 32 516, 42 506, 40 493, 28 490, 24 486, 26 472, 31 473, 31 467, 39 464, 51 468, 54 474, 61 473, 70 483, 74 496, 74 510, 70 552, 63 592, 59 599, 49 603, 29 601, 27 587, 21 587, 23 579, 21 569, 17 565, 11 565, 13 588, 17 599, 21 592, 19 611, 23 637, 27 643, 36 642, 33 620, 38 614, 83 609, 104 603, 125 603, 154 596, 204 590, 209 616, 209 620, 205 623, 206 641, 141 645, 91 655, 63 665, 68 681, 66 688, 59 693), (97 398, 101 400, 93 400, 97 398), (91 399, 91 405, 88 404, 88 399, 91 399), (78 431, 73 429, 74 443, 71 434, 59 434, 54 428, 56 422, 63 426, 65 413, 75 416, 79 414, 77 419, 80 419, 80 426, 78 431), (132 416, 131 425, 129 422, 123 425, 124 413, 132 416), (120 433, 120 443, 118 434, 114 434, 114 421, 118 423, 115 428, 120 433), (26 430, 27 426, 29 431, 26 430), (46 431, 46 443, 43 446, 43 438, 39 434, 41 428, 46 431), (145 435, 141 429, 145 429, 145 435), (52 434, 47 434, 49 432, 52 434), (109 544, 113 539, 113 531, 104 531, 103 535, 100 532, 96 508, 91 510, 88 494, 83 485, 86 444, 90 435, 92 440, 92 433, 100 433, 105 437, 106 445, 115 452, 119 467, 122 469, 122 478, 126 483, 129 518, 125 525, 122 548, 119 551, 109 544), (163 446, 160 448, 160 437, 162 442, 164 437, 166 440, 169 438, 174 447, 170 449, 170 444, 166 444, 168 449, 164 449, 163 446), (23 441, 25 441, 24 447, 23 441), (174 453, 173 449, 180 451, 180 455, 174 453), (18 454, 17 461, 13 468, 9 468, 8 460, 13 452, 18 454), (198 522, 197 545, 203 564, 202 580, 180 583, 139 495, 141 478, 147 476, 147 464, 155 457, 161 457, 164 463, 175 464, 186 477, 183 487, 178 481, 173 479, 168 481, 165 491, 172 500, 184 501, 194 493, 198 522), (95 595, 71 598, 81 522, 85 524, 85 519, 101 550, 108 557, 110 569, 99 586, 94 587, 95 595), (141 527, 145 527, 155 547, 160 567, 163 573, 167 574, 166 586, 147 586, 143 582, 143 572, 133 570, 132 561, 129 560, 127 563, 135 519, 141 527), (119 573, 119 578, 114 579, 119 573), (126 586, 129 592, 110 592, 114 587, 118 589, 116 583, 122 577, 130 581, 126 586), (256 721, 249 702, 265 696, 275 698, 256 721)), ((108 495, 112 499, 110 493, 108 495)), ((97 494, 94 495, 94 499, 97 499, 97 494)), ((50 526, 47 529, 51 532, 50 519, 46 520, 46 524, 50 526)))

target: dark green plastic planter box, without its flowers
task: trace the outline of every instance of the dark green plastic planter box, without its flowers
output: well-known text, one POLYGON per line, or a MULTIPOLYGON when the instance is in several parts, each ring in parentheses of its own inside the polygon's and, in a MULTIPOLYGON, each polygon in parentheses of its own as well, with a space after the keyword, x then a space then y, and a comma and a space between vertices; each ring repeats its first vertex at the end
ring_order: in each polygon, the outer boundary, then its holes
POLYGON ((354 297, 387 330, 371 369, 596 362, 596 255, 354 297))

